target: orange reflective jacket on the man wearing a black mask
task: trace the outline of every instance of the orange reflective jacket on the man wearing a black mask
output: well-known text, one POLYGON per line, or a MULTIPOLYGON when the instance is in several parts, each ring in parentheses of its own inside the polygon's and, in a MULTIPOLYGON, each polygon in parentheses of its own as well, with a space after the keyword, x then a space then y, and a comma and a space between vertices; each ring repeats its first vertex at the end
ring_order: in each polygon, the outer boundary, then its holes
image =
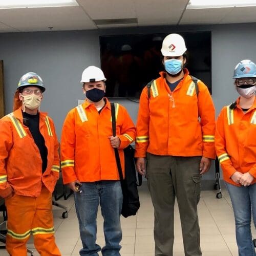
MULTIPOLYGON (((85 100, 72 109, 63 124, 61 135, 61 170, 65 184, 80 181, 119 180, 112 132, 111 105, 108 99, 98 113, 94 104, 85 100)), ((123 148, 135 140, 136 130, 126 109, 115 103, 116 135, 121 143, 119 155, 124 175, 123 148)))

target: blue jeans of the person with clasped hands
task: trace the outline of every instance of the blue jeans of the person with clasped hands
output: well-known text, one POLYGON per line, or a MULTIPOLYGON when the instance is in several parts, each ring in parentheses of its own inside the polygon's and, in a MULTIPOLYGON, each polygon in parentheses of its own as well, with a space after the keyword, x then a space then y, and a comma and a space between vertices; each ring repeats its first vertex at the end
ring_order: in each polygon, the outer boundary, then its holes
POLYGON ((251 236, 251 215, 256 228, 256 183, 250 186, 234 186, 226 183, 231 198, 239 256, 255 256, 251 236))

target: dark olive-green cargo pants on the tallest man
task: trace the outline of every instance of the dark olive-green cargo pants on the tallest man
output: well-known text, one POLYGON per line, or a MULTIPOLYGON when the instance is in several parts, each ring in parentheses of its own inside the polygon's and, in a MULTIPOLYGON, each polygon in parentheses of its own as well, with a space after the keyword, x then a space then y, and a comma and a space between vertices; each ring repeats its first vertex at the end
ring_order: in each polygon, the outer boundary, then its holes
POLYGON ((155 209, 155 255, 173 256, 174 203, 179 206, 185 256, 201 256, 197 204, 201 157, 147 154, 147 185, 155 209))

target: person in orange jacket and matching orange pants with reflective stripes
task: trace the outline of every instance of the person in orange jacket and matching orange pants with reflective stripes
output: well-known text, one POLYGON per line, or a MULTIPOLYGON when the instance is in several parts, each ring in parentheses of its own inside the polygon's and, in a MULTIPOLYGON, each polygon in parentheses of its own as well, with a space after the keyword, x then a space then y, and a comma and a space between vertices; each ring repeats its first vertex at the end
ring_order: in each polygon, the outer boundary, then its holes
POLYGON ((31 234, 40 255, 61 255, 54 239, 52 192, 59 177, 54 123, 39 112, 42 79, 33 72, 20 78, 13 112, 0 119, 0 196, 8 213, 6 249, 27 255, 31 234))

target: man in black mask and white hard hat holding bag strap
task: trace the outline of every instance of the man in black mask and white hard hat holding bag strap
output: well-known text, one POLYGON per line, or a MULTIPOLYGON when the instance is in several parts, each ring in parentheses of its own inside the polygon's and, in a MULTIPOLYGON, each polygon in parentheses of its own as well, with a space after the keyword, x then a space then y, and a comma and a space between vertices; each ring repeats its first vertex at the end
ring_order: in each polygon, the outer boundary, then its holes
POLYGON ((126 109, 116 104, 116 136, 113 137, 111 105, 105 93, 105 76, 90 66, 82 73, 86 100, 72 109, 63 124, 61 169, 63 182, 75 191, 80 227, 80 255, 119 256, 122 239, 120 214, 122 190, 113 148, 118 148, 124 175, 123 148, 135 139, 135 126, 126 109), (96 244, 96 218, 100 204, 105 246, 96 244))

